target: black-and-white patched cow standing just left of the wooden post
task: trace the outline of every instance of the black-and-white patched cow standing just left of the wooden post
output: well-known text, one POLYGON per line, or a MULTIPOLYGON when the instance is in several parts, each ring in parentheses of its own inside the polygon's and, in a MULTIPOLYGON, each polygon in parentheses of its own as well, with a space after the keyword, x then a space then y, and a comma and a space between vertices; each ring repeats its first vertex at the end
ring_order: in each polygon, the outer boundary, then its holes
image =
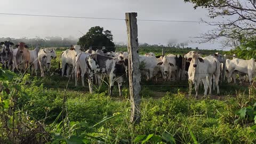
POLYGON ((109 95, 112 94, 114 82, 118 83, 119 96, 122 96, 122 83, 127 72, 128 60, 123 57, 110 58, 100 54, 91 54, 86 58, 89 70, 89 90, 92 93, 93 74, 105 74, 109 77, 109 95))

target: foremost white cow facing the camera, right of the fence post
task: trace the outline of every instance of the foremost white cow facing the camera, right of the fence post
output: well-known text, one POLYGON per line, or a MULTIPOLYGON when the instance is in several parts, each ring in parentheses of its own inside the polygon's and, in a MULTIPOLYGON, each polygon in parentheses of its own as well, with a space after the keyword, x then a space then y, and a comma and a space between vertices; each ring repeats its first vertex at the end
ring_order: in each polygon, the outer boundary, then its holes
POLYGON ((189 91, 191 92, 192 83, 195 84, 196 97, 198 95, 198 86, 200 81, 204 84, 204 95, 211 95, 212 76, 214 76, 215 84, 217 85, 217 94, 219 94, 219 76, 220 76, 220 62, 214 57, 201 58, 195 51, 190 51, 185 58, 190 61, 188 68, 189 91))

